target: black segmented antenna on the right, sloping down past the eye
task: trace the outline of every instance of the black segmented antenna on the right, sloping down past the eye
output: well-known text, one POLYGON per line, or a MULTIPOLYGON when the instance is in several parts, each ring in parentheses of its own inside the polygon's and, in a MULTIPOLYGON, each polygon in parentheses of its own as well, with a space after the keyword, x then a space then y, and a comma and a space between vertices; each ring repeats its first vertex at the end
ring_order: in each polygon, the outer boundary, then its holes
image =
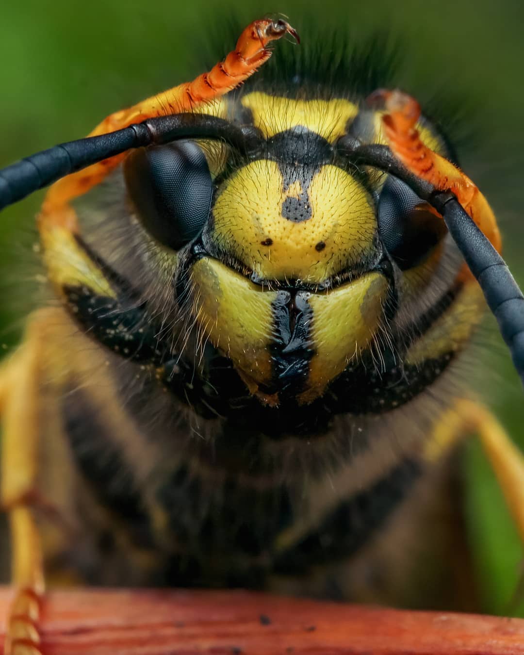
POLYGON ((421 200, 444 219, 449 233, 475 276, 498 329, 510 349, 513 364, 524 384, 524 295, 508 265, 475 225, 453 193, 439 191, 409 172, 386 145, 355 147, 351 138, 339 141, 339 153, 358 164, 374 166, 405 182, 421 200))

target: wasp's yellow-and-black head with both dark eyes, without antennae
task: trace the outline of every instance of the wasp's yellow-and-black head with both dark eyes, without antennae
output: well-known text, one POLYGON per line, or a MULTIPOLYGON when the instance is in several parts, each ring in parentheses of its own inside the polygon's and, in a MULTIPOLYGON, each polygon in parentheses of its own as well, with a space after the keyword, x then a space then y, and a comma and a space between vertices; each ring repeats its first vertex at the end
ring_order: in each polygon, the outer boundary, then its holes
POLYGON ((254 127, 256 147, 183 141, 124 164, 150 259, 173 282, 171 343, 204 383, 227 360, 261 405, 308 405, 337 380, 360 397, 366 362, 384 344, 398 354, 390 322, 405 323, 428 286, 441 221, 402 182, 339 154, 348 136, 380 140, 373 111, 253 92, 215 112, 254 127))

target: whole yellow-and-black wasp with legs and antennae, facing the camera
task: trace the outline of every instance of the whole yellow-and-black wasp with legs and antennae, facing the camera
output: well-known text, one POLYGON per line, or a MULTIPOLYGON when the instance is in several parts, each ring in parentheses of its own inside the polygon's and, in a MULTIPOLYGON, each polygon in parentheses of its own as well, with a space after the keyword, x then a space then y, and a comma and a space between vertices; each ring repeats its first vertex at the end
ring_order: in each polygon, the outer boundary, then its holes
POLYGON ((50 185, 59 301, 0 375, 6 653, 64 578, 472 608, 470 432, 524 538, 523 457, 455 383, 486 302, 524 373, 493 210, 405 92, 266 65, 286 35, 0 172, 0 208, 50 185))

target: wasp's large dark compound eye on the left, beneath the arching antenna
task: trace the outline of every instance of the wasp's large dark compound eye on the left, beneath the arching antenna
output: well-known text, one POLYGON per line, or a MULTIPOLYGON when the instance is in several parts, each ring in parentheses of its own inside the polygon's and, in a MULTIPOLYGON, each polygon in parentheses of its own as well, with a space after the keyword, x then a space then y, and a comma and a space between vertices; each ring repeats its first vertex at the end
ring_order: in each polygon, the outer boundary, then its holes
POLYGON ((202 150, 192 141, 140 148, 124 161, 130 198, 145 229, 179 250, 208 219, 213 183, 202 150))

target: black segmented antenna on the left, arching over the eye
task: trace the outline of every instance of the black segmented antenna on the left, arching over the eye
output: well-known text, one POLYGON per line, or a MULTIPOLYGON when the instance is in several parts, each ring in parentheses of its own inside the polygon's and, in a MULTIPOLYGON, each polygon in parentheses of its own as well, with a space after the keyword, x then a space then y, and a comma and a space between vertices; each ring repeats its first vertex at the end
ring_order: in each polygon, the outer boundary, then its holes
POLYGON ((240 151, 260 142, 255 128, 242 128, 206 114, 149 119, 109 134, 60 143, 0 170, 0 210, 66 175, 126 150, 196 138, 223 140, 240 151))

